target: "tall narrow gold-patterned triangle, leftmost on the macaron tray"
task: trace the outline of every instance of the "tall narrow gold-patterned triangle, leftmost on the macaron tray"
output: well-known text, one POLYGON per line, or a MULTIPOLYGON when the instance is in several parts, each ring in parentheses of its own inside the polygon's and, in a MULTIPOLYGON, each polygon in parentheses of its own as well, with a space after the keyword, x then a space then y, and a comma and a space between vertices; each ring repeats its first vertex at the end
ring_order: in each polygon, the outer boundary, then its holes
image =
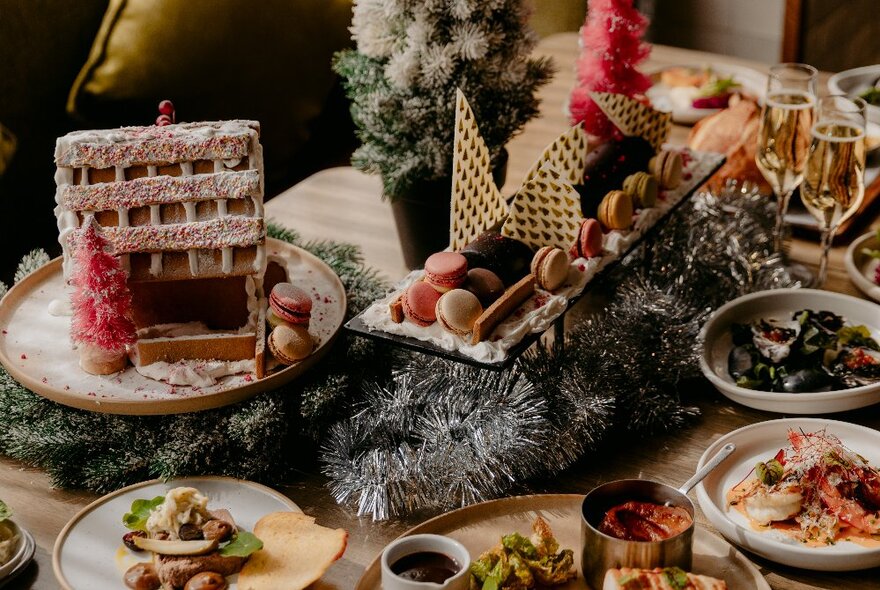
POLYGON ((460 89, 455 91, 453 148, 449 246, 460 250, 507 215, 507 203, 492 179, 489 148, 460 89))

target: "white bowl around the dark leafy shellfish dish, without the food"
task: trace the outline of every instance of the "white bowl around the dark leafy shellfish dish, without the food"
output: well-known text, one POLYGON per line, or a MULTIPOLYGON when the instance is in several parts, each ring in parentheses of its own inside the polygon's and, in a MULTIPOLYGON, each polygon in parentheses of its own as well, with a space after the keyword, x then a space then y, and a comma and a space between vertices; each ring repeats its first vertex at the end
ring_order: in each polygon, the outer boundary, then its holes
POLYGON ((700 368, 718 391, 750 408, 788 414, 828 414, 880 402, 880 383, 819 393, 781 393, 739 387, 727 372, 733 348, 730 326, 761 318, 785 318, 801 309, 828 310, 851 326, 865 325, 880 339, 880 306, 849 295, 816 289, 776 289, 744 295, 719 307, 703 326, 700 368))

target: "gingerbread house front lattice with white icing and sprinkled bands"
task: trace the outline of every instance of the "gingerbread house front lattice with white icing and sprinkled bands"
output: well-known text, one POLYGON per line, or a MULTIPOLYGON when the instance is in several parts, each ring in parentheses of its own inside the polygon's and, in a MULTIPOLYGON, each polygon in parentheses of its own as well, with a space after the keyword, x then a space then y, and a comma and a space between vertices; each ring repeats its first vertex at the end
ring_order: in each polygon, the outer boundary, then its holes
POLYGON ((256 122, 222 121, 78 131, 60 138, 56 214, 65 272, 66 242, 88 215, 105 226, 127 269, 128 255, 149 254, 153 280, 181 278, 180 269, 164 262, 179 251, 187 253, 191 277, 261 272, 265 227, 258 134, 256 122), (237 204, 244 201, 246 206, 237 204), (251 264, 236 263, 253 247, 251 264), (219 268, 205 255, 212 250, 220 252, 219 268))

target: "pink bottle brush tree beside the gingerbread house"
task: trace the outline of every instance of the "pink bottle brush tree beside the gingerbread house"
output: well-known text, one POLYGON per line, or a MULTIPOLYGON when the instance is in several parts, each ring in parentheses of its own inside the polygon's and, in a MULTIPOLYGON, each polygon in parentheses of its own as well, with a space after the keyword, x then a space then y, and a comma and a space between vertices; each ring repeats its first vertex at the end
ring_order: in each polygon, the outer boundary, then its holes
POLYGON ((99 375, 115 373, 128 361, 126 347, 135 341, 131 292, 119 260, 94 217, 74 238, 75 266, 70 336, 80 351, 80 366, 99 375))

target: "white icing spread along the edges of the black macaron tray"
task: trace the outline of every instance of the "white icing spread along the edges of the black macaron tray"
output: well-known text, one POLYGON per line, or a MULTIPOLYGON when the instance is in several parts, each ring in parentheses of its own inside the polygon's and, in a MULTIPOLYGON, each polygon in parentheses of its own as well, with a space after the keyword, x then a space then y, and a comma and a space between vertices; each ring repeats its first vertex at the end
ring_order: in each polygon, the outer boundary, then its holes
POLYGON ((605 234, 603 256, 573 260, 569 267, 568 279, 555 292, 550 293, 536 288, 534 295, 501 322, 488 340, 473 345, 470 343, 470 334, 464 337, 457 336, 444 330, 437 322, 428 327, 421 327, 406 319, 400 324, 391 320, 389 304, 409 285, 422 279, 424 274, 422 270, 415 270, 404 277, 394 286, 391 293, 373 302, 359 319, 370 331, 414 338, 480 362, 498 363, 505 360, 508 351, 528 334, 546 331, 553 321, 568 309, 570 299, 580 295, 599 271, 617 260, 685 195, 702 184, 724 158, 721 154, 687 151, 690 157, 686 158, 688 163, 683 170, 683 181, 675 190, 661 191, 655 207, 636 212, 632 230, 612 230, 605 234))

